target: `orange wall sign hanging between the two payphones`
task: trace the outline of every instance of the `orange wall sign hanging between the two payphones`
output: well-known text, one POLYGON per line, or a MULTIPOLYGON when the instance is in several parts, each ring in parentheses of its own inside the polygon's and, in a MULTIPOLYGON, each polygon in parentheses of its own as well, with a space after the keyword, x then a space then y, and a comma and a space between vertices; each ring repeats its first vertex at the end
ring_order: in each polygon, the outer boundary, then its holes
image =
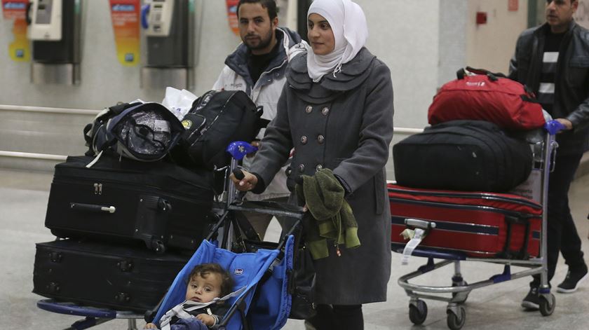
POLYGON ((116 57, 121 64, 133 67, 139 63, 140 0, 109 0, 116 57))

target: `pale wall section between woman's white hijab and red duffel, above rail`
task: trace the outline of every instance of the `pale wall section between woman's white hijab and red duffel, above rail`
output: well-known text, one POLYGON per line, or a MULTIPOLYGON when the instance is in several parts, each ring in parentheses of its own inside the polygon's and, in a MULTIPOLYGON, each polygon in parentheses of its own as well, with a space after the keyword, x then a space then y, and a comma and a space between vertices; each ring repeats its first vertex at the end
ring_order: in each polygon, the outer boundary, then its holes
POLYGON ((395 126, 423 128, 438 82, 439 1, 358 0, 367 48, 391 69, 395 126))

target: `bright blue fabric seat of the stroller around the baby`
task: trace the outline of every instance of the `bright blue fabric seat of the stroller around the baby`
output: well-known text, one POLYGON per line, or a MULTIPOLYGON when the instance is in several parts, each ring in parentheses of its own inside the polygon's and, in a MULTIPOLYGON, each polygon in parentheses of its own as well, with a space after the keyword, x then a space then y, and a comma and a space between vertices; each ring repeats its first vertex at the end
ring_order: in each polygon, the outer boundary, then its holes
POLYGON ((165 312, 184 301, 186 278, 194 266, 219 263, 233 276, 234 291, 243 291, 229 299, 231 308, 214 329, 282 328, 290 312, 287 277, 292 271, 294 243, 294 236, 288 235, 276 249, 236 253, 204 240, 178 273, 153 322, 158 322, 165 312))

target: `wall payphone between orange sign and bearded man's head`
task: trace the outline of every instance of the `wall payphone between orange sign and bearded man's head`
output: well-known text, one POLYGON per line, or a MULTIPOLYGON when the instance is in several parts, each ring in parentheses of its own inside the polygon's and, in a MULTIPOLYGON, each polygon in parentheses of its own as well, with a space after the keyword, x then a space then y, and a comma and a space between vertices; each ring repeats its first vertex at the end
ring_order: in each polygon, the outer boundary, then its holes
POLYGON ((147 52, 142 88, 194 85, 194 0, 146 0, 141 23, 147 52))

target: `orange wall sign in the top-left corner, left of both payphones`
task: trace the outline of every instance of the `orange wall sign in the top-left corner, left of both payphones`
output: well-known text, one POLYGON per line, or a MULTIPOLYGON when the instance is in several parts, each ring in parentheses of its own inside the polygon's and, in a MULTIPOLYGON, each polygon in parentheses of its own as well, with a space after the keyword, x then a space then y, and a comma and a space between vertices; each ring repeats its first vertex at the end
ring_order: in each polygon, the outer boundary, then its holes
POLYGON ((25 20, 28 3, 29 0, 2 0, 2 17, 5 20, 14 20, 14 40, 8 45, 8 53, 17 62, 27 62, 31 58, 25 20))

